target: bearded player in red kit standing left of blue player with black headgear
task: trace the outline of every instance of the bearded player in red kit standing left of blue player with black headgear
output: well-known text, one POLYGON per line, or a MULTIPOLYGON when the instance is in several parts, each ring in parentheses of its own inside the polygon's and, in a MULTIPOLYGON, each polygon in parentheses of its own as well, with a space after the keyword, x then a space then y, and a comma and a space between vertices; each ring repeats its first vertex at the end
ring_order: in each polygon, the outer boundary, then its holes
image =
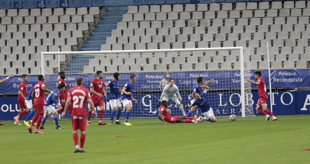
MULTIPOLYGON (((99 112, 99 122, 98 125, 105 125, 106 123, 102 122, 102 117, 104 114, 104 102, 103 102, 103 95, 104 93, 105 98, 107 98, 107 92, 105 92, 104 89, 104 82, 101 80, 103 78, 102 71, 96 72, 97 78, 95 78, 93 81, 91 81, 91 100, 94 102, 95 110, 94 110, 94 116, 97 117, 96 108, 99 106, 100 112, 99 112)), ((88 110, 87 114, 87 125, 91 125, 91 112, 93 110, 88 110)))

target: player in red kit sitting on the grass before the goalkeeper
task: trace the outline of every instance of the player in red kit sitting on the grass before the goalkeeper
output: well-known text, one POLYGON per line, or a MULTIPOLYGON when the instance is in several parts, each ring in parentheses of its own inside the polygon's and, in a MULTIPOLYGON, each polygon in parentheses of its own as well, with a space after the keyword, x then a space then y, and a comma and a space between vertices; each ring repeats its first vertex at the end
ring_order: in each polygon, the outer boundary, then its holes
POLYGON ((162 101, 162 106, 158 110, 158 118, 164 123, 197 123, 197 115, 195 118, 186 117, 186 116, 171 116, 166 108, 168 104, 167 101, 162 101))

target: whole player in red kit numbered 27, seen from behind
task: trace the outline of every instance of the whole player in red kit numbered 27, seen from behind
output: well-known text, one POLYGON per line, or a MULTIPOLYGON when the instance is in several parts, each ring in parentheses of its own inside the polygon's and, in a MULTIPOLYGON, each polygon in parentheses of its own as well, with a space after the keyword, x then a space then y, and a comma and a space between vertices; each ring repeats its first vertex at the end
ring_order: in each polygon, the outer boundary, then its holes
POLYGON ((73 100, 72 104, 72 131, 73 131, 73 140, 75 144, 74 153, 80 152, 85 153, 83 146, 85 143, 85 130, 86 130, 86 99, 88 100, 91 109, 95 110, 94 103, 91 101, 91 96, 89 91, 84 88, 83 79, 76 79, 76 87, 73 87, 68 92, 68 99, 64 106, 64 112, 61 114, 61 117, 64 117, 66 114, 67 108, 71 103, 71 99, 73 100), (78 145, 78 129, 81 131, 81 146, 78 145))

